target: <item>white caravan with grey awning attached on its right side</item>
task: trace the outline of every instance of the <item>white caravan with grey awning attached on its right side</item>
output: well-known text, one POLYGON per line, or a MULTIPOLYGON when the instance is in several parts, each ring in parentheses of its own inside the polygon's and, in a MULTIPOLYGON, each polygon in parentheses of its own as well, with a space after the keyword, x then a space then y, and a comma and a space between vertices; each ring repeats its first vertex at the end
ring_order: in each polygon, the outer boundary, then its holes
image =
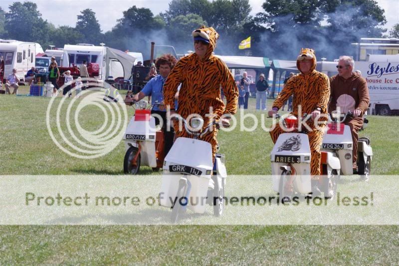
POLYGON ((105 80, 109 76, 113 78, 123 77, 128 79, 131 75, 135 57, 121 50, 106 46, 94 46, 93 44, 78 43, 77 45, 64 45, 61 66, 80 67, 84 60, 87 63, 97 63, 99 73, 96 78, 105 80))

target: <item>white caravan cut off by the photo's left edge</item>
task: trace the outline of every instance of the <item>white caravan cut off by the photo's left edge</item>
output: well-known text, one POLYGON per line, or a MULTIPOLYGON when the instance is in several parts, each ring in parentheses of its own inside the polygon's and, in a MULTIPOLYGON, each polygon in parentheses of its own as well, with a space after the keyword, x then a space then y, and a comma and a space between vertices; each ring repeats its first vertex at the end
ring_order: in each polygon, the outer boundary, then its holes
POLYGON ((16 69, 21 81, 25 80, 26 72, 35 65, 37 53, 42 53, 40 44, 18 40, 0 39, 0 59, 4 60, 4 78, 16 69))

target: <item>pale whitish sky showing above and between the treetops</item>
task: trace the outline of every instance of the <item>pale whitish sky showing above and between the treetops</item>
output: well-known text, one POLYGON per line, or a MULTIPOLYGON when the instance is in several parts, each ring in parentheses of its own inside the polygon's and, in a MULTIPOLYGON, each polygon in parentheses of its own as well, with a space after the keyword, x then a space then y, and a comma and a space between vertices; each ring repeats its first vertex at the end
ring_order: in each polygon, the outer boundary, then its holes
MULTIPOLYGON (((43 19, 53 23, 55 26, 76 25, 77 15, 80 10, 91 8, 101 25, 103 32, 111 30, 122 17, 122 12, 136 5, 137 7, 150 8, 154 15, 169 8, 170 0, 31 0, 37 4, 43 19)), ((0 0, 0 6, 8 11, 8 6, 14 1, 0 0)), ((23 0, 20 0, 23 2, 23 0)), ((252 7, 251 15, 263 11, 261 5, 264 0, 249 0, 252 7)), ((380 7, 385 10, 389 30, 393 25, 399 23, 399 0, 377 0, 380 7)))

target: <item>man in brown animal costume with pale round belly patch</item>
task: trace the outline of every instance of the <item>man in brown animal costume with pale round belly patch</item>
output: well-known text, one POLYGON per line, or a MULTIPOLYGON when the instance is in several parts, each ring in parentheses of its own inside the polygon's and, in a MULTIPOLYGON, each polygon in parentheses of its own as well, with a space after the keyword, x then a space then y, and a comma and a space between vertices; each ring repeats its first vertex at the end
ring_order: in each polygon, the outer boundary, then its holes
POLYGON ((358 140, 359 129, 363 126, 362 116, 369 107, 370 96, 366 79, 352 72, 354 69, 354 61, 350 56, 340 56, 337 65, 338 75, 331 77, 331 101, 328 111, 337 110, 341 113, 351 111, 353 117, 347 117, 344 123, 351 128, 353 141, 353 170, 357 172, 358 166, 358 140))

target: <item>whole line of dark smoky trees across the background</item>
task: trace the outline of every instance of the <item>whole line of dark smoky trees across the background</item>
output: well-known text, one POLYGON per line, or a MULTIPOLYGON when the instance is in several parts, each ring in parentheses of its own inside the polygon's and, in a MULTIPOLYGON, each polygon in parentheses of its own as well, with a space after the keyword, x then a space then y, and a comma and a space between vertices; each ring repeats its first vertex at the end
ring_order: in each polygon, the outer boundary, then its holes
MULTIPOLYGON (((215 53, 244 55, 241 40, 251 36, 253 56, 293 60, 299 49, 312 47, 328 60, 354 54, 361 37, 399 37, 399 24, 386 32, 384 9, 375 0, 265 0, 262 12, 251 16, 248 0, 172 0, 169 9, 154 15, 133 5, 106 32, 92 9, 77 14, 75 27, 42 18, 34 2, 13 2, 0 8, 0 38, 48 45, 106 43, 120 50, 142 52, 149 58, 150 43, 173 45, 178 53, 193 49, 191 32, 212 26, 220 38, 215 53)), ((101 14, 103 15, 103 14, 101 14)))

